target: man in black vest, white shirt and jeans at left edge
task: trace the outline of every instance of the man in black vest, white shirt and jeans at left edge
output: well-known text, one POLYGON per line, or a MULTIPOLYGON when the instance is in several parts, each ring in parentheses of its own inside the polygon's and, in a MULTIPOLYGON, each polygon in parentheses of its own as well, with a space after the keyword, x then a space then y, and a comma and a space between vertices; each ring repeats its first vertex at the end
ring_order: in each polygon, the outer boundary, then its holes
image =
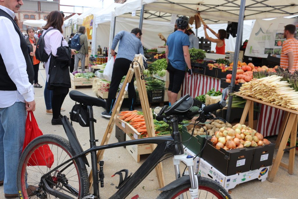
POLYGON ((22 5, 22 0, 0 0, 0 186, 4 185, 5 198, 18 198, 16 174, 26 110, 35 110, 33 66, 27 42, 14 21, 22 5))

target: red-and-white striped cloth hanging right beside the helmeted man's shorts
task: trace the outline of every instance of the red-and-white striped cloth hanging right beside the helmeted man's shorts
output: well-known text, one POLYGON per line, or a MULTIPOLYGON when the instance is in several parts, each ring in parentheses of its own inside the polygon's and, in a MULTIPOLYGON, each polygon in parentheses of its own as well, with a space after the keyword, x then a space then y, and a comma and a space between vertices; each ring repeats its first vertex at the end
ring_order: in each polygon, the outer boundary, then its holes
POLYGON ((190 77, 187 77, 187 73, 185 74, 182 84, 183 95, 188 93, 191 97, 195 98, 206 94, 212 88, 215 88, 215 91, 221 90, 221 80, 197 73, 194 73, 190 77))

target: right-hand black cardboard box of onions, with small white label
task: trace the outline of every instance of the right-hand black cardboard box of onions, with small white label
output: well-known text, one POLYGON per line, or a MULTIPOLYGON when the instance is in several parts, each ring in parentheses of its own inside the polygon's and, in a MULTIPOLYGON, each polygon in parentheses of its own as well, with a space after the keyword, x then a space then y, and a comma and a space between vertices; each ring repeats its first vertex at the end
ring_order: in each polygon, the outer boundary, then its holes
POLYGON ((252 148, 254 150, 251 170, 260 169, 261 167, 272 165, 275 144, 271 143, 264 146, 249 148, 252 148))

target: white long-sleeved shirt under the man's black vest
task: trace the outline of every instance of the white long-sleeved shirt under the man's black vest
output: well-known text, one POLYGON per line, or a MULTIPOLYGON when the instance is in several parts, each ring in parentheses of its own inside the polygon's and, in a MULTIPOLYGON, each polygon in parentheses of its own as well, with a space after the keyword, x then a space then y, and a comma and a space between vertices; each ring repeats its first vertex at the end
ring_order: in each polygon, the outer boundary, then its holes
MULTIPOLYGON (((15 17, 15 13, 7 7, 0 5, 0 9, 12 18, 15 17)), ((28 79, 27 65, 21 50, 20 37, 15 31, 12 21, 0 16, 0 27, 0 54, 9 77, 17 87, 16 91, 0 90, 0 108, 5 108, 12 106, 15 102, 33 101, 34 90, 28 79)))

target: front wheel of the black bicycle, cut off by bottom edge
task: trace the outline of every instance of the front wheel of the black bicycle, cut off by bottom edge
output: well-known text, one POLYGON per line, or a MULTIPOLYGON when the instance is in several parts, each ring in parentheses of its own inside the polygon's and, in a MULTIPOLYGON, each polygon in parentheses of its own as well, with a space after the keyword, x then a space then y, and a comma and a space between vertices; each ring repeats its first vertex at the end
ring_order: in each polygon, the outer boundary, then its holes
MULTIPOLYGON (((198 198, 204 198, 204 199, 212 199, 212 198, 218 198, 218 199, 230 199, 231 196, 229 193, 219 184, 215 183, 214 181, 201 177, 199 180, 199 190, 198 190, 198 198)), ((179 195, 183 195, 183 198, 191 198, 190 192, 190 183, 182 184, 178 187, 175 187, 173 189, 170 189, 168 191, 163 191, 161 194, 157 197, 157 199, 162 198, 179 198, 179 195)))

